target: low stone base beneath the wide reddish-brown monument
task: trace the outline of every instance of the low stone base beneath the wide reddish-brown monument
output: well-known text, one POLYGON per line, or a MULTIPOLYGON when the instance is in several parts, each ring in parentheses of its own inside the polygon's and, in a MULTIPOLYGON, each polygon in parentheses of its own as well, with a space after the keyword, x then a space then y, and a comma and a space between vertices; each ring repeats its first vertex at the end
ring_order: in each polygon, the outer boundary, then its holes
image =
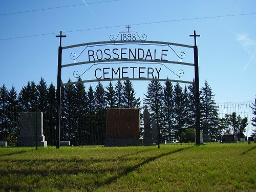
POLYGON ((105 139, 105 146, 142 146, 142 139, 105 139))

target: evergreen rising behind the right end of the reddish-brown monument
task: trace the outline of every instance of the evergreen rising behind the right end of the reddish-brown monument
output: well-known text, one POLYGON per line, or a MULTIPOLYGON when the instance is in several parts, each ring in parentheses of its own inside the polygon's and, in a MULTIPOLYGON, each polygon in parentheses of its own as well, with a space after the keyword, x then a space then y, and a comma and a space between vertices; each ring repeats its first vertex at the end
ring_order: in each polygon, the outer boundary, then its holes
POLYGON ((135 98, 135 91, 130 80, 123 82, 123 95, 122 95, 123 108, 139 108, 140 98, 135 98))

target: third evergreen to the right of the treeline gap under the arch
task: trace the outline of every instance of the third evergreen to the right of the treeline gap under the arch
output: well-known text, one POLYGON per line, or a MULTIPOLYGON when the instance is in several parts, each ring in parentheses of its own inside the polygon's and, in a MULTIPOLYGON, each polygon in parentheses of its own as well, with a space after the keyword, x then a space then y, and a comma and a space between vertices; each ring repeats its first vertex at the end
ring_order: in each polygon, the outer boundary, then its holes
POLYGON ((185 96, 179 83, 174 86, 174 137, 181 142, 181 133, 185 131, 185 96))

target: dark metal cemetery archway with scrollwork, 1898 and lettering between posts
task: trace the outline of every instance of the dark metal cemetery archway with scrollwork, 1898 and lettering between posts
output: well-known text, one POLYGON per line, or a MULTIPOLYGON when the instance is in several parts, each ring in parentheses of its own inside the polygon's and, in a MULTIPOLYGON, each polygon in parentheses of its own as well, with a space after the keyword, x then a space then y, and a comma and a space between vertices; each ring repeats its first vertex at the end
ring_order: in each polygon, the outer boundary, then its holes
MULTIPOLYGON (((93 81, 110 81, 110 80, 157 80, 157 81, 173 81, 173 82, 182 82, 182 83, 193 83, 193 81, 184 81, 180 80, 180 77, 183 76, 184 72, 183 70, 179 70, 179 74, 175 73, 174 71, 170 70, 166 65, 167 64, 178 64, 178 65, 185 65, 185 66, 194 66, 195 67, 195 87, 196 87, 196 144, 200 145, 200 114, 199 114, 199 70, 198 70, 198 49, 196 45, 196 37, 200 35, 196 35, 196 31, 194 31, 193 36, 195 40, 195 46, 189 46, 189 45, 182 45, 182 44, 174 44, 170 42, 162 42, 162 41, 147 41, 147 36, 143 34, 141 37, 137 32, 131 32, 129 31, 129 26, 126 27, 127 31, 125 32, 119 32, 117 37, 115 38, 114 35, 110 35, 110 41, 100 41, 100 42, 88 42, 86 44, 78 44, 78 45, 72 45, 67 47, 61 46, 61 38, 66 37, 66 35, 62 35, 62 32, 60 31, 60 35, 57 35, 56 37, 60 38, 59 48, 58 48, 58 75, 57 75, 57 130, 58 130, 58 142, 56 147, 60 147, 60 105, 61 105, 61 86, 65 86, 68 84, 75 84, 75 83, 85 83, 85 82, 93 82, 93 81), (118 37, 121 37, 121 40, 117 40, 118 37), (139 40, 137 40, 139 39, 139 40), (135 48, 121 48, 120 50, 117 48, 110 49, 110 47, 113 46, 134 46, 135 48), (103 51, 101 49, 98 49, 95 51, 93 48, 98 47, 107 47, 103 51), (162 46, 166 49, 162 49, 160 52, 157 49, 150 49, 148 48, 146 53, 143 49, 141 49, 140 46, 162 46), (194 50, 194 63, 188 63, 188 62, 182 62, 182 59, 185 58, 185 53, 181 52, 180 54, 177 54, 177 52, 173 49, 173 46, 177 47, 183 47, 183 48, 189 48, 194 50), (71 48, 83 48, 82 51, 76 56, 74 52, 70 54, 70 58, 73 60, 72 63, 67 63, 65 65, 62 65, 62 50, 68 50, 71 48), (139 47, 139 48, 138 48, 139 47), (171 51, 174 55, 176 55, 180 60, 174 61, 174 60, 168 60, 166 59, 168 51, 171 51), (86 54, 87 52, 87 54, 86 54), (82 60, 80 62, 76 62, 76 60, 80 56, 88 56, 86 60, 82 60), (104 55, 104 56, 103 56, 104 55), (139 78, 135 78, 135 69, 138 69, 138 67, 130 67, 133 70, 133 78, 130 77, 124 77, 126 73, 128 73, 127 70, 128 67, 118 68, 115 70, 114 68, 97 68, 95 70, 95 78, 96 79, 90 79, 90 80, 82 80, 82 81, 74 81, 74 82, 68 82, 68 83, 61 83, 61 69, 67 68, 71 66, 80 66, 85 64, 91 64, 91 67, 95 65, 99 65, 100 63, 155 63, 157 65, 163 65, 166 67, 169 71, 174 73, 178 79, 160 79, 159 73, 156 68, 156 72, 158 74, 158 78, 154 78, 153 72, 154 69, 148 67, 147 70, 145 67, 139 68, 139 78), (143 71, 144 70, 144 71, 143 71), (103 71, 103 72, 102 72, 103 71), (102 72, 102 75, 98 75, 98 72, 102 72), (147 72, 147 78, 141 77, 142 74, 147 72), (105 75, 109 75, 112 73, 112 78, 105 77, 105 75), (150 78, 150 75, 152 78, 150 78), (119 78, 113 78, 114 76, 119 76, 119 78)), ((78 71, 73 72, 73 76, 78 78, 82 76, 84 73, 86 73, 89 69, 89 67, 86 71, 84 71, 82 74, 79 74, 78 71)))

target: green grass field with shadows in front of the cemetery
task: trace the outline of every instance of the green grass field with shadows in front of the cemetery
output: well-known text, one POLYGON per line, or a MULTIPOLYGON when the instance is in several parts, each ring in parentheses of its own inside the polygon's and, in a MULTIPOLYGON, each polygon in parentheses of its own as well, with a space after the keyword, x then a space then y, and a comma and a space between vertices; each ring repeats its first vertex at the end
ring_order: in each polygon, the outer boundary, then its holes
POLYGON ((2 147, 0 191, 256 191, 256 143, 2 147))

